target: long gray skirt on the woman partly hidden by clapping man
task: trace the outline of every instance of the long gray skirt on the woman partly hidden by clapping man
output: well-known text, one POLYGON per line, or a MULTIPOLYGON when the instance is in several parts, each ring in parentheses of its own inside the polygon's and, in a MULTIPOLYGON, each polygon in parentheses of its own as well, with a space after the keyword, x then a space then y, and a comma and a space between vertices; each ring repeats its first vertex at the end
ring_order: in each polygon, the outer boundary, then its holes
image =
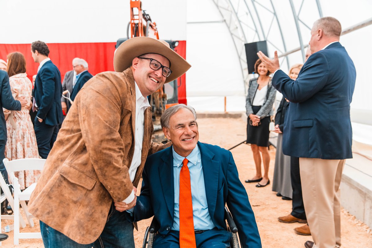
POLYGON ((279 133, 276 144, 273 191, 280 193, 282 196, 292 198, 291 157, 283 154, 282 143, 283 134, 279 133))

